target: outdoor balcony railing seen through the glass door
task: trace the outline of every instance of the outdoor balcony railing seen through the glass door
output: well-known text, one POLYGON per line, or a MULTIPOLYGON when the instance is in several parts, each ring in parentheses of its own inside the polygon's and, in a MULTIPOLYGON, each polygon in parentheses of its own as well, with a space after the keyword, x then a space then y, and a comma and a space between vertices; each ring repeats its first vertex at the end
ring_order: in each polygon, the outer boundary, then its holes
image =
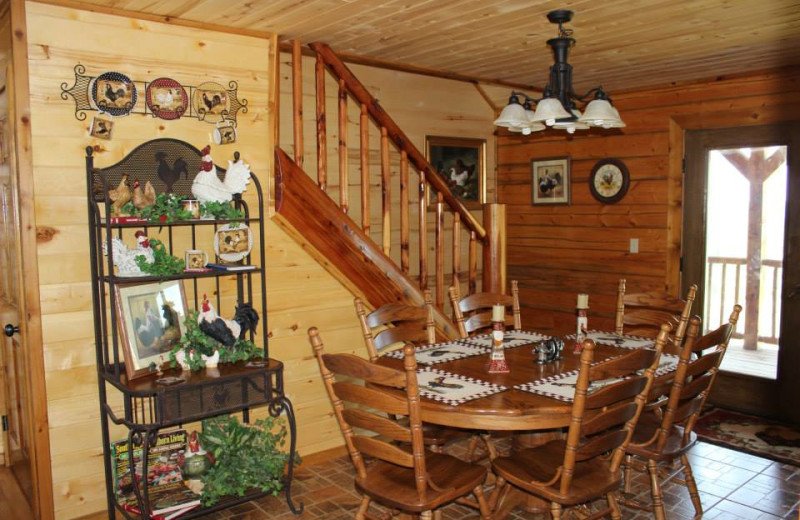
POLYGON ((762 260, 760 268, 753 270, 749 275, 758 276, 761 280, 758 293, 745 294, 748 276, 746 258, 708 257, 705 291, 706 329, 714 330, 722 323, 726 323, 727 313, 730 313, 735 303, 739 303, 744 307, 742 316, 745 316, 748 310, 753 312, 753 309, 756 309, 759 319, 755 320, 757 330, 748 330, 747 324, 753 322, 740 318, 739 321, 745 323, 744 333, 734 333, 733 337, 745 338, 745 348, 749 349, 757 348, 756 342, 777 345, 780 333, 783 262, 762 260))

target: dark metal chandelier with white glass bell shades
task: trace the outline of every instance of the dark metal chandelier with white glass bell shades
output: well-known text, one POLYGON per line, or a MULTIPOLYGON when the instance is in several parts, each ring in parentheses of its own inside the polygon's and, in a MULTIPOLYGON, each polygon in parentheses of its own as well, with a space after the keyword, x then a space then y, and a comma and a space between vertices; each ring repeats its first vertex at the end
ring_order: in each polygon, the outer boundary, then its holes
POLYGON ((547 45, 553 49, 555 64, 550 67, 550 81, 542 97, 534 99, 524 92, 512 91, 508 105, 494 121, 496 126, 523 135, 544 130, 548 126, 566 130, 570 134, 591 127, 625 126, 619 112, 611 104, 611 98, 601 87, 589 89, 583 95, 578 95, 572 88, 572 65, 567 63, 567 54, 570 47, 575 45, 575 39, 572 38, 572 29, 563 26, 572 20, 572 14, 566 9, 547 13, 550 23, 558 24, 558 37, 547 40, 547 45), (593 99, 589 101, 592 95, 593 99), (578 110, 578 103, 585 105, 583 113, 578 110))

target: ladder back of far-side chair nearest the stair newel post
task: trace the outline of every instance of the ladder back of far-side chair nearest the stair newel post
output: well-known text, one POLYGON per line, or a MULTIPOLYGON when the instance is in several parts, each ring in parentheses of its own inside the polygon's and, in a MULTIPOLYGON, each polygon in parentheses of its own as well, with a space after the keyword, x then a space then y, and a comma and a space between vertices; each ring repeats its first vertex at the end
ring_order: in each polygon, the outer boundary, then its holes
POLYGON ((510 295, 481 292, 461 298, 457 286, 450 287, 449 292, 450 303, 453 305, 453 321, 456 322, 462 338, 488 332, 492 326, 492 307, 497 304, 506 308, 506 325, 512 325, 515 330, 522 328, 516 280, 511 281, 510 295))

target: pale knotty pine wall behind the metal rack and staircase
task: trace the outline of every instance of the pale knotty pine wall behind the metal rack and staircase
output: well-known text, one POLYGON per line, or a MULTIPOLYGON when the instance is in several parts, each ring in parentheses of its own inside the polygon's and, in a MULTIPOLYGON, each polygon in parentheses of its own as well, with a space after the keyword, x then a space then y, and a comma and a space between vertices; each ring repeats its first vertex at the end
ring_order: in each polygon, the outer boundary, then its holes
MULTIPOLYGON (((234 150, 240 151, 266 187, 273 174, 275 40, 269 35, 241 36, 35 2, 26 6, 50 458, 56 518, 69 519, 105 509, 84 148, 94 146, 96 164, 106 166, 141 142, 157 137, 186 140, 198 148, 212 144, 215 161, 223 164, 234 150), (88 129, 96 113, 88 112, 87 120, 79 121, 72 99, 60 97, 61 83, 71 86, 74 82, 77 63, 86 67, 88 75, 119 71, 139 81, 160 76, 187 85, 236 80, 240 98, 249 102, 248 112, 239 114, 239 139, 235 145, 214 146, 210 124, 191 118, 163 121, 142 114, 115 118, 112 140, 92 139, 88 129)), ((489 139, 487 169, 493 178, 493 114, 474 87, 355 68, 420 148, 425 135, 489 139)), ((284 63, 280 70, 281 112, 291 117, 284 63)), ((143 102, 140 93, 138 107, 143 102)), ((306 111, 313 114, 313 102, 307 101, 306 111)), ((306 149, 313 150, 314 137, 309 132, 306 149)), ((284 129, 282 143, 290 136, 290 130, 284 129)), ((377 145, 377 139, 373 143, 377 145)), ((490 180, 490 197, 492 187, 490 180)), ((352 295, 280 228, 269 220, 265 227, 270 353, 286 365, 300 452, 315 453, 341 445, 342 439, 306 330, 319 327, 329 351, 363 355, 363 340, 352 295)), ((228 289, 223 290, 227 296, 228 289)), ((112 404, 119 408, 118 399, 112 404)), ((112 437, 123 433, 112 428, 112 437)))

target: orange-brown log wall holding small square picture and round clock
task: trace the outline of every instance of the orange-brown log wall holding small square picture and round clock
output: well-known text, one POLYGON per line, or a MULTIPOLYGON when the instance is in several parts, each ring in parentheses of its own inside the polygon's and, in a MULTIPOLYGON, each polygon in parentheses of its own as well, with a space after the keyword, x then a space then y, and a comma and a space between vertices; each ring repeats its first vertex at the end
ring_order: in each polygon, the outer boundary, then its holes
POLYGON ((612 93, 624 129, 500 134, 497 198, 507 205, 508 277, 520 282, 524 325, 571 331, 576 294, 588 293, 590 327, 612 327, 622 277, 629 292, 678 294, 684 131, 798 120, 799 84, 794 69, 612 93), (572 161, 571 204, 532 206, 530 161, 563 156, 572 161), (607 157, 631 174, 627 195, 613 205, 596 201, 588 186, 592 167, 607 157), (638 254, 629 253, 631 238, 638 254))

